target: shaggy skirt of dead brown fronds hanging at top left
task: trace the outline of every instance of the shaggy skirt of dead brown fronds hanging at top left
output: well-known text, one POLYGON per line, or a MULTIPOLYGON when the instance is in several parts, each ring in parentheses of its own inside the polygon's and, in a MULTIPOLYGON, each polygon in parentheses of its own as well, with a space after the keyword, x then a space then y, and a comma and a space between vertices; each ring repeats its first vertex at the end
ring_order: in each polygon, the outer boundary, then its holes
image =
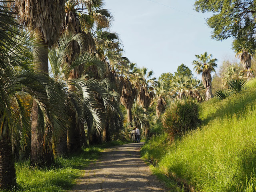
POLYGON ((16 0, 14 6, 19 20, 31 29, 38 29, 49 46, 60 36, 66 0, 16 0))

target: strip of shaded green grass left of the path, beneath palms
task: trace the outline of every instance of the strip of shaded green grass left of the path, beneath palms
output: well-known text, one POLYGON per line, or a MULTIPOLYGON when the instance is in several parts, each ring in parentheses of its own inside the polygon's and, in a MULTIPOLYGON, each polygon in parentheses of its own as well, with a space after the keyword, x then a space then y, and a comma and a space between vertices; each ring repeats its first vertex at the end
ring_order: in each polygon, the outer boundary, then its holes
MULTIPOLYGON (((72 188, 75 179, 82 175, 81 169, 99 158, 104 148, 124 144, 121 141, 83 148, 68 157, 58 157, 51 168, 30 168, 30 162, 15 165, 18 187, 12 192, 65 192, 72 188)), ((5 190, 4 192, 10 192, 5 190)))

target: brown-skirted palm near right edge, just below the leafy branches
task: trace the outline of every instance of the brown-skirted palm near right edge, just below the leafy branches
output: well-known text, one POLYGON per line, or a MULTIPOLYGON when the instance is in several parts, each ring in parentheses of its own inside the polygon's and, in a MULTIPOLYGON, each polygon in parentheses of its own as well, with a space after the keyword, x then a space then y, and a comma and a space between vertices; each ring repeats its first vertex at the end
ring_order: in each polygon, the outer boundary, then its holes
POLYGON ((244 69, 247 73, 247 79, 250 80, 254 77, 253 71, 252 71, 252 56, 248 52, 247 49, 240 50, 236 53, 236 56, 240 58, 241 63, 244 66, 244 69))

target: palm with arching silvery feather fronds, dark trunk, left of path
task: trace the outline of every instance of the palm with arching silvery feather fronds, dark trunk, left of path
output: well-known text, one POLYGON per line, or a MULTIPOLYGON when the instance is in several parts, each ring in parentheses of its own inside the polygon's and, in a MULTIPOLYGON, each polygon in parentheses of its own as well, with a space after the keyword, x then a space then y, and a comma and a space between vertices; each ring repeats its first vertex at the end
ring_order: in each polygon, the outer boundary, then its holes
MULTIPOLYGON (((68 103, 70 113, 70 126, 67 130, 67 145, 68 151, 74 152, 80 148, 80 136, 84 132, 84 122, 87 121, 87 126, 90 128, 97 128, 100 131, 100 127, 103 127, 104 121, 102 120, 102 108, 99 106, 96 98, 99 96, 105 106, 109 103, 109 94, 106 90, 104 82, 99 82, 94 78, 88 78, 86 70, 81 72, 81 77, 74 77, 74 69, 83 66, 88 68, 89 66, 96 66, 98 73, 101 74, 104 71, 103 62, 98 60, 94 54, 88 51, 81 51, 79 54, 74 55, 73 60, 67 60, 70 58, 69 46, 72 46, 72 42, 76 41, 79 48, 82 50, 82 34, 76 34, 73 36, 64 34, 58 41, 58 46, 50 51, 49 58, 52 66, 53 74, 56 79, 65 81, 68 85, 68 103), (80 82, 80 84, 76 83, 80 82), (97 95, 97 96, 96 96, 97 95), (83 96, 83 97, 81 97, 83 96), (96 96, 94 99, 91 97, 96 96), (90 101, 90 103, 88 103, 90 101), (94 106, 92 105, 94 104, 94 106), (90 114, 90 115, 89 115, 90 114), (100 126, 98 125, 98 119, 100 119, 100 126)), ((65 137, 65 134, 63 138, 65 137)), ((57 149, 58 150, 58 149, 57 149)))

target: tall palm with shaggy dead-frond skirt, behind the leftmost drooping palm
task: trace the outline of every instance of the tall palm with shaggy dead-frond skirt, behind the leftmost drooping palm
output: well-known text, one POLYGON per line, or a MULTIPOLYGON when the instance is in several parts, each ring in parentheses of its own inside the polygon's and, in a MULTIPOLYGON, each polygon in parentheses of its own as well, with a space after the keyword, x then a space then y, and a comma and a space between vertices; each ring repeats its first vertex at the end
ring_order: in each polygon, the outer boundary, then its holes
MULTIPOLYGON (((38 54, 34 54, 34 63, 40 72, 48 75, 48 47, 51 47, 60 36, 65 0, 49 3, 48 0, 17 0, 14 2, 20 22, 41 37, 38 54)), ((31 166, 52 164, 52 152, 42 148, 42 130, 38 122, 38 104, 33 101, 31 126, 31 166), (41 160, 45 160, 45 162, 41 160)))

